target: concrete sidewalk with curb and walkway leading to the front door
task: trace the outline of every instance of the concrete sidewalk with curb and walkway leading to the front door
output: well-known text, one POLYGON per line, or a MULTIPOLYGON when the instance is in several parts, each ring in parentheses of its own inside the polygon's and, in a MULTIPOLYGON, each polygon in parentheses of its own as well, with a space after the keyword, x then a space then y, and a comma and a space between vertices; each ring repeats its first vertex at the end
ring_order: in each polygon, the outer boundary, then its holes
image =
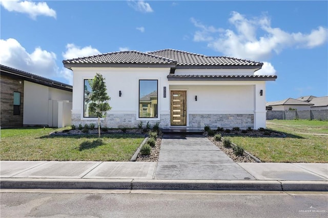
POLYGON ((328 191, 328 164, 235 163, 207 138, 163 137, 158 162, 0 161, 1 188, 328 191))

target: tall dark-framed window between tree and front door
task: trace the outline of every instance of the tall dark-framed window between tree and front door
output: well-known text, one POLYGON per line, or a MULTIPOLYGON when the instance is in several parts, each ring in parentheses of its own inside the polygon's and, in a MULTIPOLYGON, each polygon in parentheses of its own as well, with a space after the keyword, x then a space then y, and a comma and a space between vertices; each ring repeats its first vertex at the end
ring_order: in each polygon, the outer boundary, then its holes
POLYGON ((157 80, 139 80, 139 118, 157 118, 157 80))

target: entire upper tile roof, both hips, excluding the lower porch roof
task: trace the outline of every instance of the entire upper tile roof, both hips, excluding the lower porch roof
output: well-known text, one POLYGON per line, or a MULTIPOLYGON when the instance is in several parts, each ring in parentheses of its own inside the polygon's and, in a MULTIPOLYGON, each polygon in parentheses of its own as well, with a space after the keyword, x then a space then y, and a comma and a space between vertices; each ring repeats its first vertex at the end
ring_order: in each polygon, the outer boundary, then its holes
POLYGON ((260 69, 261 62, 224 56, 206 56, 174 49, 153 52, 122 51, 63 60, 71 64, 175 64, 176 66, 245 67, 260 69))

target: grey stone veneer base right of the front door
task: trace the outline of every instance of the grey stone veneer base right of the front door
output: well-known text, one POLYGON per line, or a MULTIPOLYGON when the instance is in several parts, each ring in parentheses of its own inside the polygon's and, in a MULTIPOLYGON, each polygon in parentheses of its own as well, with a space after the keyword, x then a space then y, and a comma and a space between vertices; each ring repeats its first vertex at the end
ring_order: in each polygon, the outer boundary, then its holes
POLYGON ((253 114, 189 114, 189 127, 203 128, 248 128, 254 127, 253 114))

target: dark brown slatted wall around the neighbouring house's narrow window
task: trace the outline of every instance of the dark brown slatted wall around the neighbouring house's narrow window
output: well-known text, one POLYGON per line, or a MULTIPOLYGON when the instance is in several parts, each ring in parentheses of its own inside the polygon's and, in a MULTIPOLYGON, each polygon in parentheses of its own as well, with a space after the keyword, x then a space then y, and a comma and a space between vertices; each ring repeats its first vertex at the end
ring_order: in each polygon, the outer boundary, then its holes
POLYGON ((0 86, 1 127, 23 126, 24 81, 1 75, 0 86), (20 115, 14 115, 14 92, 20 92, 20 115))

